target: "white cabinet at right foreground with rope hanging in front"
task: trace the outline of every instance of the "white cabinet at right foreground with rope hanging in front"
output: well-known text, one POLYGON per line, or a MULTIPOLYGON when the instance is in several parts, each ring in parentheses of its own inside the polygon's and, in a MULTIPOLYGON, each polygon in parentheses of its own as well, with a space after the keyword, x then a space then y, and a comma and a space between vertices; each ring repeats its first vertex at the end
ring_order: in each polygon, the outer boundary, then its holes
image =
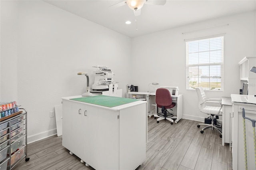
MULTIPOLYGON (((244 166, 244 137, 242 108, 245 116, 256 119, 256 97, 253 95, 231 95, 233 124, 232 124, 232 158, 233 170, 243 170, 244 166)), ((254 142, 252 122, 245 120, 248 170, 255 169, 254 142)))

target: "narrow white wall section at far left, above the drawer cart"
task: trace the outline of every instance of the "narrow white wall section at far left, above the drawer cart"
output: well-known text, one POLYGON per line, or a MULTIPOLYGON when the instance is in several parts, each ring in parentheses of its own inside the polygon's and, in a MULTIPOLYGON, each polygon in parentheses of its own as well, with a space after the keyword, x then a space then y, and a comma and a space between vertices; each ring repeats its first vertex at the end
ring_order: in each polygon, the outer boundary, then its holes
POLYGON ((1 101, 18 100, 17 70, 17 23, 18 6, 16 3, 1 1, 1 62, 0 91, 1 101), (7 41, 5 41, 7 40, 7 41))

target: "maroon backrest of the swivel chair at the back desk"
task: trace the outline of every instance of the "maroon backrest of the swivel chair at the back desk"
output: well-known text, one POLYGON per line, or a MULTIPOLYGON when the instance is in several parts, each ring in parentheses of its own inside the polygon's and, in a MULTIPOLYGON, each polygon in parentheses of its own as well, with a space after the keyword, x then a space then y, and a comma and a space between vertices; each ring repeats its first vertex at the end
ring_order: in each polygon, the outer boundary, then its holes
POLYGON ((160 107, 172 105, 172 96, 168 89, 156 89, 156 104, 160 107))

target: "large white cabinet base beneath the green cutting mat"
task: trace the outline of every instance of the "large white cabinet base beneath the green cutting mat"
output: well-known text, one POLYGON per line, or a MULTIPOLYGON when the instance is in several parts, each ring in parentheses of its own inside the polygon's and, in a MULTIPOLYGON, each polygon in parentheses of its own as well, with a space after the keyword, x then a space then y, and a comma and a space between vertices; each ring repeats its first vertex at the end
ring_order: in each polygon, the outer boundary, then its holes
POLYGON ((138 102, 115 109, 63 99, 62 145, 96 170, 136 169, 146 158, 146 102, 138 102))

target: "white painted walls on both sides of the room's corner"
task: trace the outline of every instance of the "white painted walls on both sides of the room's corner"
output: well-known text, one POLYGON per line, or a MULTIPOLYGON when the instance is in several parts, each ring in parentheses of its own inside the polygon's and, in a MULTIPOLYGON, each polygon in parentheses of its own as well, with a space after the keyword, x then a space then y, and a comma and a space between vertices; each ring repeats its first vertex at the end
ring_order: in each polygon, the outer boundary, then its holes
POLYGON ((254 12, 132 39, 42 1, 1 1, 0 12, 0 97, 27 109, 28 142, 56 133, 49 112, 61 97, 82 94, 86 77, 76 74, 87 71, 91 85, 97 64, 114 71, 123 97, 128 83, 140 91, 152 82, 178 86, 184 118, 202 121, 196 92, 186 90, 184 40, 226 33, 224 91, 206 92, 214 98, 239 93, 238 62, 256 54, 254 12), (209 28, 222 24, 229 25, 209 28))

